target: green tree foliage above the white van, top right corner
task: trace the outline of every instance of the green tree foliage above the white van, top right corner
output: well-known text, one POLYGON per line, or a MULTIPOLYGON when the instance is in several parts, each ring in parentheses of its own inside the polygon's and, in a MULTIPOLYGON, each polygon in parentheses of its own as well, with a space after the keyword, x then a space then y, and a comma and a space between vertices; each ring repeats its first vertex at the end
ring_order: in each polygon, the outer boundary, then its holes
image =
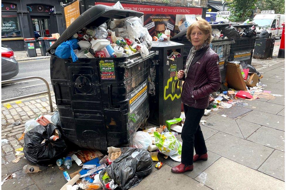
POLYGON ((262 10, 274 10, 275 14, 285 14, 285 0, 258 0, 257 8, 262 10))

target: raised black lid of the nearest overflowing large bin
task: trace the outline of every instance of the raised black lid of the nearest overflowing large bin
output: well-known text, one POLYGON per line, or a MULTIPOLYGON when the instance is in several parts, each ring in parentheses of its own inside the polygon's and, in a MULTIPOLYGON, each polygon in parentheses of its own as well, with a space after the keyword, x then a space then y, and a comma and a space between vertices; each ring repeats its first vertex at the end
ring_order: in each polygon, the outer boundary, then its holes
POLYGON ((71 36, 73 36, 76 32, 87 26, 100 26, 105 23, 110 18, 114 19, 122 19, 130 16, 141 17, 144 13, 124 10, 124 9, 116 9, 111 6, 106 5, 95 5, 89 8, 87 11, 82 13, 74 22, 69 25, 69 27, 62 33, 62 35, 57 39, 57 41, 49 48, 47 51, 50 53, 51 49, 58 47, 62 42, 67 41, 71 36))

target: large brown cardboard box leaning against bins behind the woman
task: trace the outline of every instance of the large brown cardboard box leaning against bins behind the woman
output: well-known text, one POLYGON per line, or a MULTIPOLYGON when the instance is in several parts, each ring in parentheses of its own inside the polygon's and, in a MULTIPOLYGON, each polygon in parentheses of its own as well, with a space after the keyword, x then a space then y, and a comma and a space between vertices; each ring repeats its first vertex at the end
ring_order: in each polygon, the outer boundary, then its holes
POLYGON ((227 62, 226 80, 229 88, 235 90, 247 90, 244 79, 241 75, 240 65, 227 62))

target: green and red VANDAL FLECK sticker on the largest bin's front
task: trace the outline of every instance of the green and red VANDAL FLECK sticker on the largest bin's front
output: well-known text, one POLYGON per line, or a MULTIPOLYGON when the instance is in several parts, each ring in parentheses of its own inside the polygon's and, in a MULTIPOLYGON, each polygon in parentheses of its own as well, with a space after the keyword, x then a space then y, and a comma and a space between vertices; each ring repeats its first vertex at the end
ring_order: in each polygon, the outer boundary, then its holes
POLYGON ((99 61, 101 79, 115 79, 114 63, 112 60, 99 61))

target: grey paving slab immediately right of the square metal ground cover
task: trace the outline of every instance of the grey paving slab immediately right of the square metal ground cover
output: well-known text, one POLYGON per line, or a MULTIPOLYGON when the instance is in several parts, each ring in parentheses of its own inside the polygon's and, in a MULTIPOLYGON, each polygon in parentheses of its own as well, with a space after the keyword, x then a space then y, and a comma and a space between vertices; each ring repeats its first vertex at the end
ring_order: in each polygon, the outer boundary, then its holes
POLYGON ((285 108, 285 106, 283 105, 277 105, 272 102, 262 102, 256 100, 249 101, 248 105, 244 107, 270 114, 278 114, 282 109, 285 108))

